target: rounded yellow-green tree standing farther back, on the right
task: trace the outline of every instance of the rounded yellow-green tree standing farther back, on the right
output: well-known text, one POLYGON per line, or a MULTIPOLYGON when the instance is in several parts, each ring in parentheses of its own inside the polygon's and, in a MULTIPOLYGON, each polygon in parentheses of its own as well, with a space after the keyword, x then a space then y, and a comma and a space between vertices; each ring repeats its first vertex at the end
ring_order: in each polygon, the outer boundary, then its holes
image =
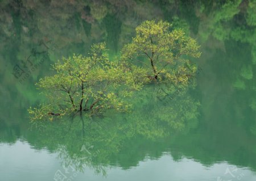
POLYGON ((200 57, 195 39, 182 30, 170 31, 170 24, 162 20, 147 20, 136 28, 136 36, 122 49, 122 61, 146 69, 146 77, 154 81, 187 83, 196 73, 188 57, 200 57))

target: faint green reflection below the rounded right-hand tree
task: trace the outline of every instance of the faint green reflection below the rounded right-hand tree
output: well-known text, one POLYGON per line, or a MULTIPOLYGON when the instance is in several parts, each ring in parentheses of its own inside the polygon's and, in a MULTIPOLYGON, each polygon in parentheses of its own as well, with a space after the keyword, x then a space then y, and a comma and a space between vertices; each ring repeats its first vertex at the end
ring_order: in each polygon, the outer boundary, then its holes
POLYGON ((136 120, 135 130, 152 138, 196 127, 200 103, 184 87, 159 84, 139 91, 133 105, 127 119, 136 120))

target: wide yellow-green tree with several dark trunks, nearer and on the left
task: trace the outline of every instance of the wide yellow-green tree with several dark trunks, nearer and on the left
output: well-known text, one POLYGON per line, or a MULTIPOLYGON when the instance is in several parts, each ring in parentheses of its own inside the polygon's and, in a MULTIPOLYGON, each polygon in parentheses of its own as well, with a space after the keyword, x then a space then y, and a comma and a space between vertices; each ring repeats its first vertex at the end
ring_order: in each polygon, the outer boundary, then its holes
POLYGON ((124 98, 140 85, 119 62, 109 61, 105 50, 105 43, 94 44, 87 57, 74 54, 57 61, 53 65, 56 73, 36 83, 46 94, 48 103, 30 108, 31 120, 44 119, 47 114, 52 120, 53 116, 68 112, 127 110, 129 104, 124 98))

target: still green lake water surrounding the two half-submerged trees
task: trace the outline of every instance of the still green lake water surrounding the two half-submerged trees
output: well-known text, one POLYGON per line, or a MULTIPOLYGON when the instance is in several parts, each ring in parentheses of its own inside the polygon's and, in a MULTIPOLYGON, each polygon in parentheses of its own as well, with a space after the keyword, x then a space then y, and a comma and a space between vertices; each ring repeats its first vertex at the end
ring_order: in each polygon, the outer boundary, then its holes
POLYGON ((256 180, 256 1, 0 1, 0 180, 256 180), (133 111, 31 124, 51 64, 167 20, 201 45, 197 86, 133 111), (175 129, 168 120, 180 123, 175 129), (59 178, 58 178, 59 176, 59 178))

